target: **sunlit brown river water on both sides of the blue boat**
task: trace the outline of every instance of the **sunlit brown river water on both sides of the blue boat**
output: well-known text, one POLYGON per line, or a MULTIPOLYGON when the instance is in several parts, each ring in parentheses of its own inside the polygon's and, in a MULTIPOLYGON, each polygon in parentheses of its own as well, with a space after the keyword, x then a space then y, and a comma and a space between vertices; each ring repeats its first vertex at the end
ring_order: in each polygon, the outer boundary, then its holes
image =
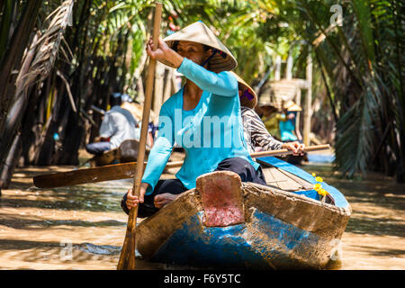
MULTIPOLYGON (((342 238, 342 259, 329 269, 405 269, 404 184, 382 175, 339 179, 326 164, 302 167, 337 187, 353 209, 342 238)), ((17 169, 0 202, 1 269, 116 269, 128 219, 120 201, 132 182, 46 190, 32 184, 33 175, 72 168, 17 169)), ((139 259, 137 268, 177 267, 139 259)))

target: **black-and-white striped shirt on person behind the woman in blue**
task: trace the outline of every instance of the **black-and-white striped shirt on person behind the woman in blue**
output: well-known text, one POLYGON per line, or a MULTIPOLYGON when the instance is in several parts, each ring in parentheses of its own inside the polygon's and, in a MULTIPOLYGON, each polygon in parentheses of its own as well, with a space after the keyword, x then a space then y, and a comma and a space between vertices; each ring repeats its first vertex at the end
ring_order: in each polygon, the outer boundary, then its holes
POLYGON ((240 109, 242 112, 244 137, 249 153, 255 152, 255 148, 262 148, 265 151, 283 148, 283 142, 276 140, 269 134, 257 112, 246 106, 241 106, 240 109))

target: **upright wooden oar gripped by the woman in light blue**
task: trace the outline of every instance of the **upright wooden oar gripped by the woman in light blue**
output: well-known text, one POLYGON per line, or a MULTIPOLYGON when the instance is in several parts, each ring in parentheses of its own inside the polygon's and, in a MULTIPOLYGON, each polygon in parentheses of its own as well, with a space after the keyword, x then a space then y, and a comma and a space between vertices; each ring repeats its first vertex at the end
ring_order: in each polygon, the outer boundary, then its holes
MULTIPOLYGON (((162 16, 162 4, 156 3, 155 8, 155 21, 153 25, 153 42, 154 47, 157 47, 159 34, 160 34, 160 22, 162 16)), ((140 180, 143 175, 143 160, 145 158, 146 139, 148 135, 148 120, 150 106, 152 103, 152 90, 153 80, 155 77, 156 60, 149 59, 148 66, 148 78, 146 83, 145 102, 142 113, 142 126, 140 128, 140 140, 139 140, 139 153, 136 166, 136 172, 133 180, 133 192, 139 198, 140 180)), ((133 270, 135 269, 135 248, 136 248, 136 223, 138 216, 138 206, 130 210, 130 216, 128 218, 127 232, 121 249, 120 261, 118 262, 118 270, 133 270)))

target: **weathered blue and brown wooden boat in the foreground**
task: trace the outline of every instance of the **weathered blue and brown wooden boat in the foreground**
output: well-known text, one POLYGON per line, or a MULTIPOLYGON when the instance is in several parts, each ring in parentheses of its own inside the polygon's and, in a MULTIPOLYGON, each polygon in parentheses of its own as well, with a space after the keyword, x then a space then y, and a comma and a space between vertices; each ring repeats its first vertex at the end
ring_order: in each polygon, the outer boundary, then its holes
POLYGON ((267 185, 213 172, 137 227, 137 249, 153 262, 232 269, 321 269, 351 208, 336 188, 324 201, 315 178, 276 157, 257 158, 267 185))

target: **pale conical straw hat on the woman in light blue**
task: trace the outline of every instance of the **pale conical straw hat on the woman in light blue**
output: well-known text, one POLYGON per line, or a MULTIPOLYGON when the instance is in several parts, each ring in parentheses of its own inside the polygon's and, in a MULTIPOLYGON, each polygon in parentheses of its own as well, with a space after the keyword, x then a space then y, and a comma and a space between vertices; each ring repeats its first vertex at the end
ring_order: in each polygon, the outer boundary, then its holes
MULTIPOLYGON (((230 71, 238 66, 238 61, 230 53, 229 49, 220 42, 218 37, 202 21, 188 25, 164 39, 170 48, 173 48, 175 41, 181 40, 204 44, 220 50, 220 53, 215 53, 210 60, 210 70, 212 72, 230 71)), ((169 63, 164 64, 173 67, 169 63)))

